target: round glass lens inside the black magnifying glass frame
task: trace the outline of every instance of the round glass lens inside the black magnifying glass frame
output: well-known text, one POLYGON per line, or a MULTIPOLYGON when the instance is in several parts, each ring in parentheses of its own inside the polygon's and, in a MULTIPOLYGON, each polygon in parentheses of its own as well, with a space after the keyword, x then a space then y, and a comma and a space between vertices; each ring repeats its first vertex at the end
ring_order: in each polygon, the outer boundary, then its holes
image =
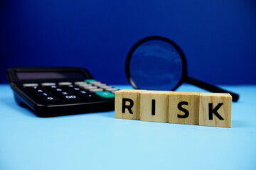
POLYGON ((175 89, 183 76, 183 61, 169 42, 147 40, 132 53, 130 77, 138 89, 175 89))

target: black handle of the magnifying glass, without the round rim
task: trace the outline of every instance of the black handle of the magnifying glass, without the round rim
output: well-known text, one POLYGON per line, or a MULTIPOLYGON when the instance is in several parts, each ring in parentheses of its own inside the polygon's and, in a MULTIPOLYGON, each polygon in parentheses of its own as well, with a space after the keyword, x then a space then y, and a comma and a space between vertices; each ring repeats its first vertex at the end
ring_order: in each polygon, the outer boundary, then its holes
POLYGON ((203 81, 193 79, 191 77, 186 78, 186 82, 188 84, 193 84, 194 86, 198 86, 202 89, 205 89, 207 91, 213 92, 213 93, 225 93, 225 94, 230 94, 232 96, 232 101, 238 101, 239 95, 234 94, 230 91, 226 91, 224 89, 220 89, 218 86, 214 86, 212 84, 205 83, 203 81))

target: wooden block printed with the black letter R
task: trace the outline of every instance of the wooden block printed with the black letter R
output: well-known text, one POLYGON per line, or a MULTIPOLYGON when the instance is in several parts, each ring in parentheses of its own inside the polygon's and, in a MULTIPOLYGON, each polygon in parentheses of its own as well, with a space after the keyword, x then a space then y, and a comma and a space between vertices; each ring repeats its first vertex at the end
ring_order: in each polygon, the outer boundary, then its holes
POLYGON ((119 90, 115 92, 115 118, 139 120, 139 96, 144 90, 119 90))

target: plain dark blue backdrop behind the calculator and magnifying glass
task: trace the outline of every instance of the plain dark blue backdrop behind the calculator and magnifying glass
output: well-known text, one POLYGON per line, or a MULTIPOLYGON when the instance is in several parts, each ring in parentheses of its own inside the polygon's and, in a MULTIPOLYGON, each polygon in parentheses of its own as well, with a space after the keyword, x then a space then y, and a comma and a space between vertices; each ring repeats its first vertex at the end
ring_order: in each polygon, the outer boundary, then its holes
POLYGON ((191 77, 256 84, 256 1, 1 0, 0 82, 9 67, 86 67, 127 84, 130 47, 149 35, 174 40, 191 77))

